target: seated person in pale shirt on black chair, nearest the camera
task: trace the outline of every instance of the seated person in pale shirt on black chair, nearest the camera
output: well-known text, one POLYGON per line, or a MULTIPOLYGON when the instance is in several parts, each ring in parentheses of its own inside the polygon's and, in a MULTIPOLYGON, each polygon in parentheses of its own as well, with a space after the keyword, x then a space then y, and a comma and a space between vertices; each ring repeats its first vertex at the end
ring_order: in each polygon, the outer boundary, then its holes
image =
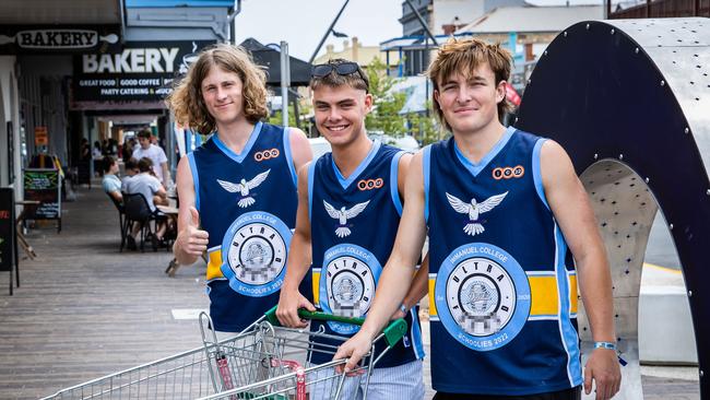
MULTIPOLYGON (((129 193, 141 193, 147 201, 147 205, 151 208, 151 211, 159 215, 159 211, 156 209, 157 205, 166 205, 167 202, 167 192, 153 173, 153 162, 149 157, 143 157, 138 162, 139 174, 134 175, 129 179, 125 179, 121 185, 121 190, 129 193)), ((133 232, 128 237, 128 247, 135 247, 135 236, 138 235, 141 226, 135 224, 133 226, 133 232)), ((166 224, 165 221, 159 221, 157 223, 156 232, 154 235, 154 240, 162 242, 163 235, 165 234, 166 224)))

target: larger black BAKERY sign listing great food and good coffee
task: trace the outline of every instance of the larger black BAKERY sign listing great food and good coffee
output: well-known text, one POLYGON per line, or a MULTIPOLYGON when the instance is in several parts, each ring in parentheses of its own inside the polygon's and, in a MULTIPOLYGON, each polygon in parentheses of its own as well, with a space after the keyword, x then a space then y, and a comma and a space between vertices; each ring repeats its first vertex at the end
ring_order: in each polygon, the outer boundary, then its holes
POLYGON ((161 101, 214 40, 127 42, 120 52, 74 56, 72 102, 161 101))

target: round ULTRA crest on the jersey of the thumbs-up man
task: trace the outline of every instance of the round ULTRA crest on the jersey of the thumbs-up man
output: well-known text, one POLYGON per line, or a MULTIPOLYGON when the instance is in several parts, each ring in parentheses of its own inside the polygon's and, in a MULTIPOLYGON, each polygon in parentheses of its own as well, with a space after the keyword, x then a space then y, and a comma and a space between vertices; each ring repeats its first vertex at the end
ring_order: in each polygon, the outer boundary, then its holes
POLYGON ((286 273, 291 230, 279 217, 262 211, 240 215, 222 242, 222 273, 229 286, 247 296, 268 296, 286 273))

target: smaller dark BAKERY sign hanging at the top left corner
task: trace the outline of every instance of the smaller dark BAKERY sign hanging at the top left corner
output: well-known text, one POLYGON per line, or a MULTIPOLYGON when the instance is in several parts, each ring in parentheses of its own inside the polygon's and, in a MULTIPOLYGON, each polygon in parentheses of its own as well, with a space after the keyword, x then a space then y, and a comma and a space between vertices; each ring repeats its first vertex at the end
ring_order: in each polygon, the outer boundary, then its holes
POLYGON ((118 28, 107 26, 0 27, 0 54, 117 50, 118 28))

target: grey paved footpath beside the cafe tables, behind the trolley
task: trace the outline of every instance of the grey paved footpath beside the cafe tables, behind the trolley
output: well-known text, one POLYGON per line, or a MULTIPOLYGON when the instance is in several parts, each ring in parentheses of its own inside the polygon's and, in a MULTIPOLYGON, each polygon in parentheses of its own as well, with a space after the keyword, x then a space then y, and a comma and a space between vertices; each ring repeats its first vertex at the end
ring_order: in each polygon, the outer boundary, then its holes
MULTIPOLYGON (((118 214, 100 185, 62 207, 61 234, 29 231, 39 258, 21 261, 13 296, 0 273, 0 399, 36 399, 201 344, 197 320, 173 311, 208 307, 203 262, 169 279, 165 249, 118 252, 118 214)), ((643 386, 647 399, 699 399, 697 381, 643 386)))

